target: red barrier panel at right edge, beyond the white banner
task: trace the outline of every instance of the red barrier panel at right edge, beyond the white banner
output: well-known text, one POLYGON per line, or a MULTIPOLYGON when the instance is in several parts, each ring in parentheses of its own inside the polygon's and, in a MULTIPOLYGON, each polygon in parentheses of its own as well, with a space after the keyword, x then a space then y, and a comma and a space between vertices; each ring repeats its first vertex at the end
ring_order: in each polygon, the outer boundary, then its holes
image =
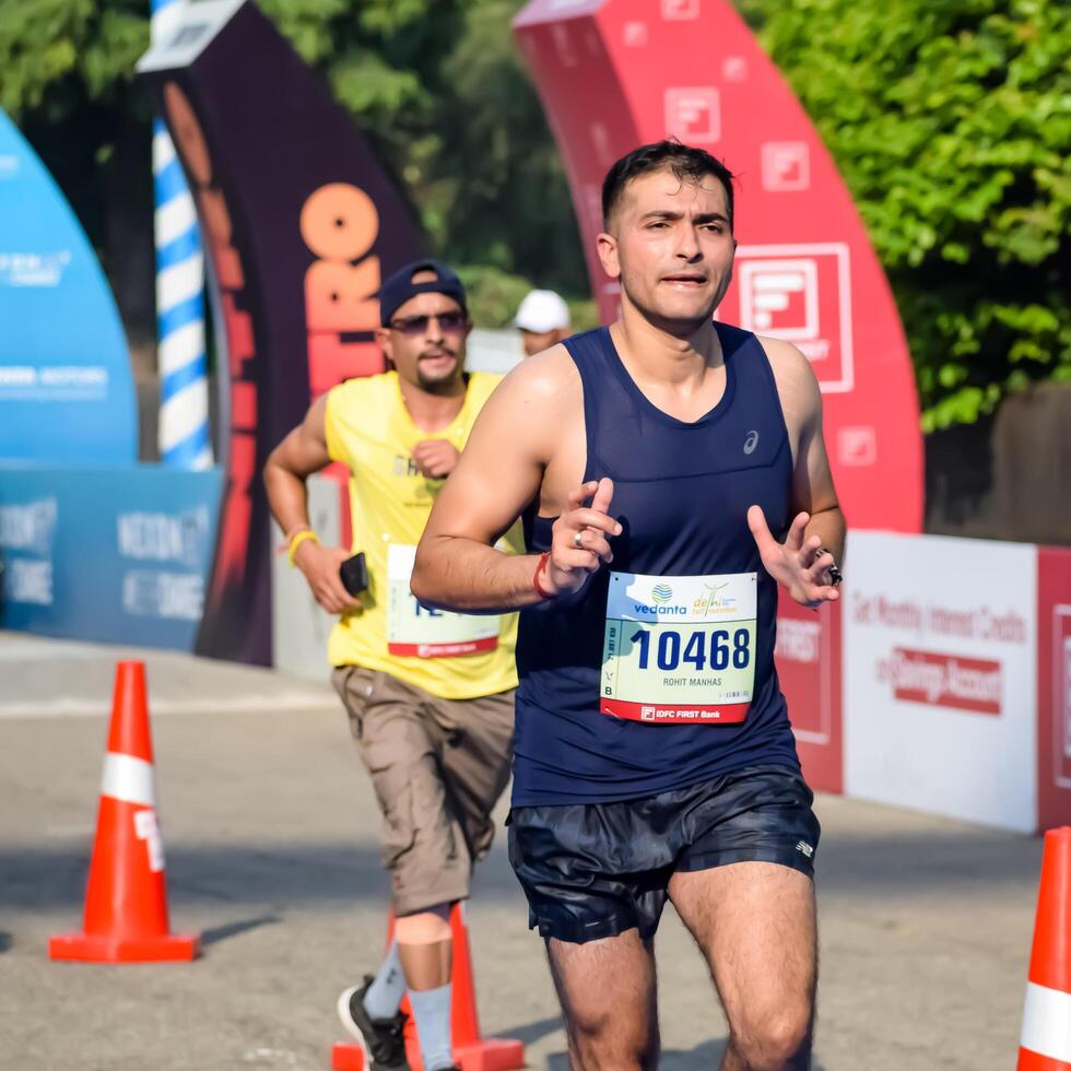
POLYGON ((1037 552, 1037 826, 1071 823, 1071 550, 1037 552))

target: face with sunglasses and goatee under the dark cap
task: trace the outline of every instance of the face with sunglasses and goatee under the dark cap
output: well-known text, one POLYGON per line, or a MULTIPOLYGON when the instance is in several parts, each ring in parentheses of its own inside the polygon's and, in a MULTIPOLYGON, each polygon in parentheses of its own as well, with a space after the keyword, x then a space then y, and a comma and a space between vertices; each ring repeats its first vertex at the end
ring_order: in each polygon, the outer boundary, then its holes
POLYGON ((402 379, 437 391, 460 380, 471 329, 464 309, 452 297, 428 293, 399 305, 390 326, 377 336, 402 379))

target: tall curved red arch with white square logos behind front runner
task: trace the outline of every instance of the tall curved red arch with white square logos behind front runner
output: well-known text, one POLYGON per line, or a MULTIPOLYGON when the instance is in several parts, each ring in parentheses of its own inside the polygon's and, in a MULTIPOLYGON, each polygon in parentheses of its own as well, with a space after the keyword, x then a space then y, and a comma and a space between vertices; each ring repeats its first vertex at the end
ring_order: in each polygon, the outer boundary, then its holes
POLYGON ((918 399, 888 284, 817 131, 729 0, 532 0, 515 30, 603 320, 617 309, 595 247, 607 169, 667 136, 723 158, 740 246, 718 318, 811 361, 852 527, 919 531, 918 399))

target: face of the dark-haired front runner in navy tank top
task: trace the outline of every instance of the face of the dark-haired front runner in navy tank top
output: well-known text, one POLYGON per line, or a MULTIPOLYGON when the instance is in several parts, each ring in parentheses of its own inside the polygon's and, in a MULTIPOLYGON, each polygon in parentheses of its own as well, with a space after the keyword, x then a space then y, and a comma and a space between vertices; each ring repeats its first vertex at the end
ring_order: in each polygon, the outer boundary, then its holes
POLYGON ((714 175, 698 185, 670 170, 642 175, 625 187, 610 224, 600 255, 625 299, 670 330, 711 318, 737 248, 725 187, 714 175))

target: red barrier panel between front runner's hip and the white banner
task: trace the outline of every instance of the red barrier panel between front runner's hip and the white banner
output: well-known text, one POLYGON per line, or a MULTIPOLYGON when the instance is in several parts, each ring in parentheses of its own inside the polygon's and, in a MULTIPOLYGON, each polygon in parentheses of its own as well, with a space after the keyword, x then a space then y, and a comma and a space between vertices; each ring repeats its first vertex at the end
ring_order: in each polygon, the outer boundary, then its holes
POLYGON ((840 603, 808 610, 782 597, 774 657, 803 776, 811 788, 844 791, 840 737, 840 603))

